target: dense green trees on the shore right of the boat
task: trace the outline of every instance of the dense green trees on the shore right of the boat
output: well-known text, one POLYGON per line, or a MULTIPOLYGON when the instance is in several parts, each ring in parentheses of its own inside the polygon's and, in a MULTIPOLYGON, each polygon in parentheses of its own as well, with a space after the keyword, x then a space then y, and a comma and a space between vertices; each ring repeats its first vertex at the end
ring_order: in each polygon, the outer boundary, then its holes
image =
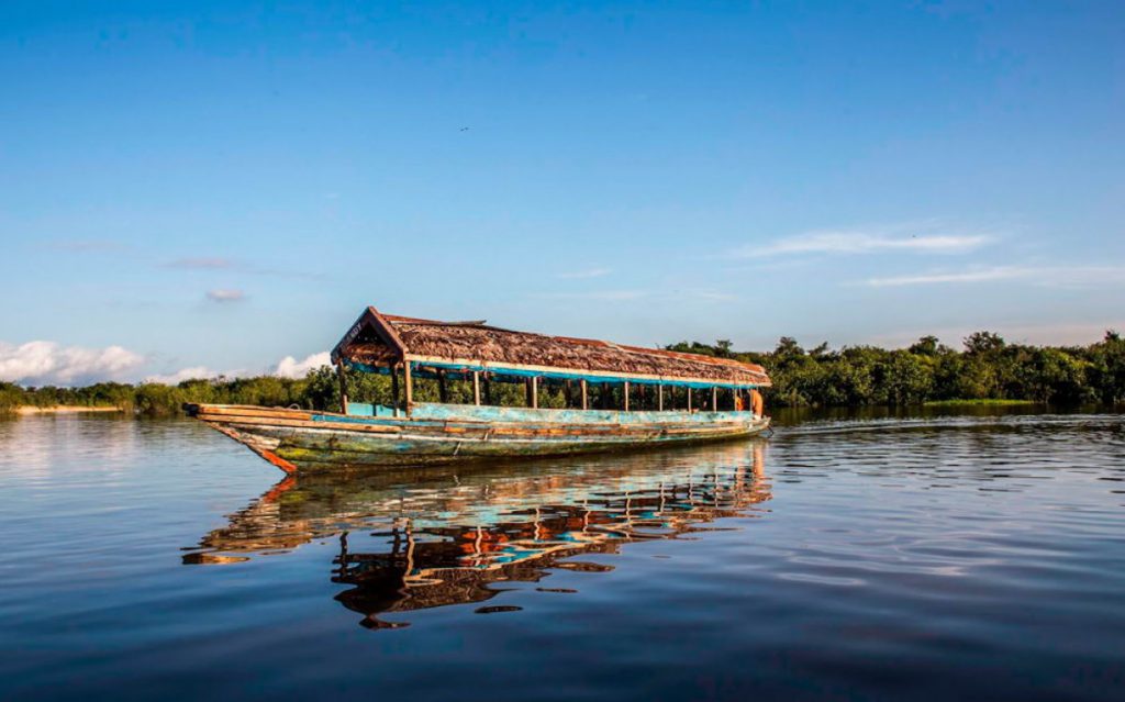
POLYGON ((729 341, 668 346, 765 366, 774 406, 916 405, 950 400, 1027 400, 1058 405, 1125 402, 1125 341, 1116 332, 1088 346, 1009 344, 991 332, 963 350, 924 336, 908 349, 828 344, 803 349, 784 336, 766 353, 739 353, 729 341))

